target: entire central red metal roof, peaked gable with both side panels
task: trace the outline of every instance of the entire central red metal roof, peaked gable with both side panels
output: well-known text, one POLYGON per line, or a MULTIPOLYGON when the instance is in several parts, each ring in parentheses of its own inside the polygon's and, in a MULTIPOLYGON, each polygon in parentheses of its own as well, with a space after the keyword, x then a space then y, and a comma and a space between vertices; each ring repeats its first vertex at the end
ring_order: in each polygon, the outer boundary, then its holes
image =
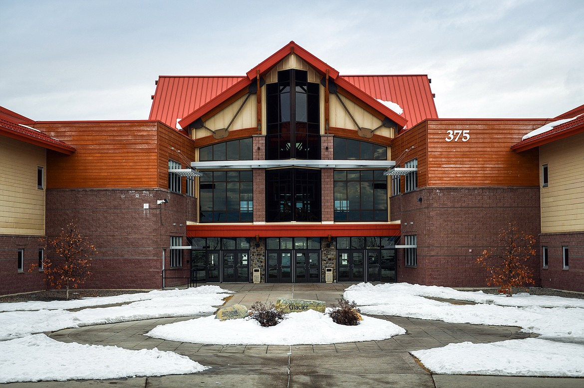
POLYGON ((162 121, 172 128, 176 128, 176 119, 180 119, 180 125, 185 127, 245 90, 256 77, 257 70, 260 75, 264 75, 292 51, 323 75, 329 70, 329 77, 339 87, 400 126, 408 125, 411 128, 425 118, 437 118, 427 76, 339 76, 331 66, 290 42, 249 70, 246 76, 159 77, 152 96, 154 101, 150 119, 162 121), (394 98, 390 101, 404 108, 404 114, 398 115, 376 100, 380 98, 387 101, 388 96, 394 98))

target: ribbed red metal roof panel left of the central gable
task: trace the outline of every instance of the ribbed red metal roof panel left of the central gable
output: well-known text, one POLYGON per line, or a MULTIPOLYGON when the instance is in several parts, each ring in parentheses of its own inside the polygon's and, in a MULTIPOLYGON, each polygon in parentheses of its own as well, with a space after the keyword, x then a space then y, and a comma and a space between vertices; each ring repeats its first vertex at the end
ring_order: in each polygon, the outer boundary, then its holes
POLYGON ((150 120, 176 128, 176 119, 213 100, 245 76, 160 76, 150 109, 150 120))

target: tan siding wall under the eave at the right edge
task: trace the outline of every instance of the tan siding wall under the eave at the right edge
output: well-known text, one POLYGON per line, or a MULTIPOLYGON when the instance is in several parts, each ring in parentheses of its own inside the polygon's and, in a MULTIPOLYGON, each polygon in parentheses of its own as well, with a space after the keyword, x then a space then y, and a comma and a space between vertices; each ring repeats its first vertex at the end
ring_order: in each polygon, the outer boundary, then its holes
POLYGON ((540 146, 548 165, 548 186, 541 188, 541 232, 584 231, 584 134, 540 146))

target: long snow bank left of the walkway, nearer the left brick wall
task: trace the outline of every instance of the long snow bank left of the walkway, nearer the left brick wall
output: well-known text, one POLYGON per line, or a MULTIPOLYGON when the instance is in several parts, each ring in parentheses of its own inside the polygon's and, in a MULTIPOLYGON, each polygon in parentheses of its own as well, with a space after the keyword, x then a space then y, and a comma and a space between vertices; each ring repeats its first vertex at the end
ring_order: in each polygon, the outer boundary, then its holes
MULTIPOLYGON (((34 333, 66 329, 68 327, 213 313, 215 311, 213 306, 222 305, 223 298, 229 296, 225 292, 229 291, 222 290, 216 285, 203 285, 196 288, 187 288, 186 290, 152 291, 147 294, 81 299, 81 301, 48 302, 46 305, 41 305, 47 308, 52 308, 53 306, 75 308, 82 301, 88 301, 88 303, 96 305, 99 302, 105 302, 105 299, 108 304, 116 303, 113 301, 123 302, 131 298, 142 299, 122 306, 85 308, 75 312, 62 309, 5 311, 0 313, 0 341, 34 333), (148 295, 149 299, 144 299, 145 295, 148 295)), ((39 306, 41 303, 43 302, 32 302, 36 306, 39 306)), ((27 304, 28 302, 22 304, 25 305, 23 308, 30 308, 27 304)), ((13 307, 8 306, 8 308, 13 307)), ((0 304, 0 309, 6 310, 2 304, 0 304)))

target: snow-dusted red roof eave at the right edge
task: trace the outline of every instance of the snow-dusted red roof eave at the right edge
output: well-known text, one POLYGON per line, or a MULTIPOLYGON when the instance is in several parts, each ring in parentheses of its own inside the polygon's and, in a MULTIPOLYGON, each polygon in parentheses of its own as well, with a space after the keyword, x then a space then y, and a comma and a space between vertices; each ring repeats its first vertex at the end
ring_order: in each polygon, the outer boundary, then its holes
POLYGON ((574 108, 554 118, 553 122, 541 126, 533 133, 524 136, 524 140, 514 144, 511 149, 516 152, 543 146, 545 144, 564 139, 584 132, 584 105, 574 108))

